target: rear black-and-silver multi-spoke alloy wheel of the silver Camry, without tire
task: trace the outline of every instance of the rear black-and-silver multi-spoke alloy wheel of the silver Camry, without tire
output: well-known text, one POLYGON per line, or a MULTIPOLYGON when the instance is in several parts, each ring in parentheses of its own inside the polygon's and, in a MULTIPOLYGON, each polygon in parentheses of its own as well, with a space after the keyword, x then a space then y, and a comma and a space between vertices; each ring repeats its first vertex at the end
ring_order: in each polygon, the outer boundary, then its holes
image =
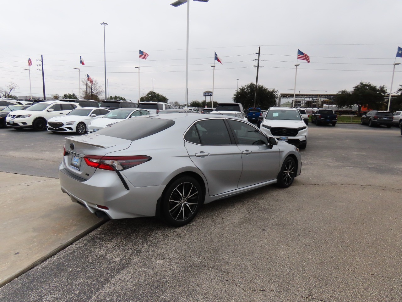
POLYGON ((184 221, 193 215, 199 203, 199 192, 191 182, 176 186, 169 197, 169 213, 176 221, 184 221))

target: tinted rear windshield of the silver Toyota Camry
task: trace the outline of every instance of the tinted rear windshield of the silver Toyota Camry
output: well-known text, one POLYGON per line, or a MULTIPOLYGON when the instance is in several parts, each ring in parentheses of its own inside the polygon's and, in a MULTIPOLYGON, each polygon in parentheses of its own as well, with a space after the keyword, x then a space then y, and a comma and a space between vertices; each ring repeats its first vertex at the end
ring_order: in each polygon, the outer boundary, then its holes
POLYGON ((97 134, 135 141, 149 137, 174 125, 174 121, 162 118, 130 118, 110 127, 100 129, 97 134))

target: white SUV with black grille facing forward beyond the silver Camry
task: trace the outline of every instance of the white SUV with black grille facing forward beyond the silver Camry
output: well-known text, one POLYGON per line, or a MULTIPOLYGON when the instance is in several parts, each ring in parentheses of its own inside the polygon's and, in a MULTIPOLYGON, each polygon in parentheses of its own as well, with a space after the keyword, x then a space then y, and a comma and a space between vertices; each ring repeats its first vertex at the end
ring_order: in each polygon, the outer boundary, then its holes
POLYGON ((269 137, 287 141, 300 149, 305 149, 307 146, 308 126, 296 108, 269 108, 260 129, 269 137))

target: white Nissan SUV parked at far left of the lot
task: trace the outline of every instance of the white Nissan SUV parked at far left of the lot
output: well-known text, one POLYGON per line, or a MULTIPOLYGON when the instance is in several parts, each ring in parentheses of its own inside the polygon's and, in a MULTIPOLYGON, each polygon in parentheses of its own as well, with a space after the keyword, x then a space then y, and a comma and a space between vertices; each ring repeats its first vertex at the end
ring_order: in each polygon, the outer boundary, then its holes
POLYGON ((65 116, 71 110, 80 107, 77 103, 62 101, 40 102, 26 110, 16 110, 6 117, 7 126, 21 129, 33 128, 35 131, 46 130, 47 120, 56 116, 65 116))

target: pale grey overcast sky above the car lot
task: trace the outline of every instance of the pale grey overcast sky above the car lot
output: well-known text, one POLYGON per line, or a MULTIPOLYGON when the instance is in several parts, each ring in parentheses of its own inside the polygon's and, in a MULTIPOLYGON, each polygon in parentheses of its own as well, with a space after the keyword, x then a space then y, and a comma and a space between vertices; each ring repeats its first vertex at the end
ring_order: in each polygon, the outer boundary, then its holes
MULTIPOLYGON (((184 102, 187 4, 148 1, 4 1, 0 44, 0 87, 18 84, 15 95, 42 96, 36 60, 43 55, 46 95, 78 94, 89 74, 102 87, 104 80, 103 25, 106 26, 106 68, 109 95, 138 99, 152 90, 169 101, 184 102), (149 54, 139 59, 138 51, 149 54), (82 56, 85 65, 79 65, 82 56)), ((269 1, 209 0, 190 3, 189 101, 232 101, 237 83, 255 83, 261 46, 258 84, 279 93, 293 93, 297 49, 310 56, 299 61, 296 91, 336 93, 360 81, 390 87, 392 64, 402 47, 397 0, 269 1), (237 81, 237 79, 239 79, 237 81)), ((402 62, 397 58, 396 62, 402 62)), ((393 92, 402 85, 402 64, 396 66, 393 92)), ((83 87, 82 87, 83 88, 83 87)))

